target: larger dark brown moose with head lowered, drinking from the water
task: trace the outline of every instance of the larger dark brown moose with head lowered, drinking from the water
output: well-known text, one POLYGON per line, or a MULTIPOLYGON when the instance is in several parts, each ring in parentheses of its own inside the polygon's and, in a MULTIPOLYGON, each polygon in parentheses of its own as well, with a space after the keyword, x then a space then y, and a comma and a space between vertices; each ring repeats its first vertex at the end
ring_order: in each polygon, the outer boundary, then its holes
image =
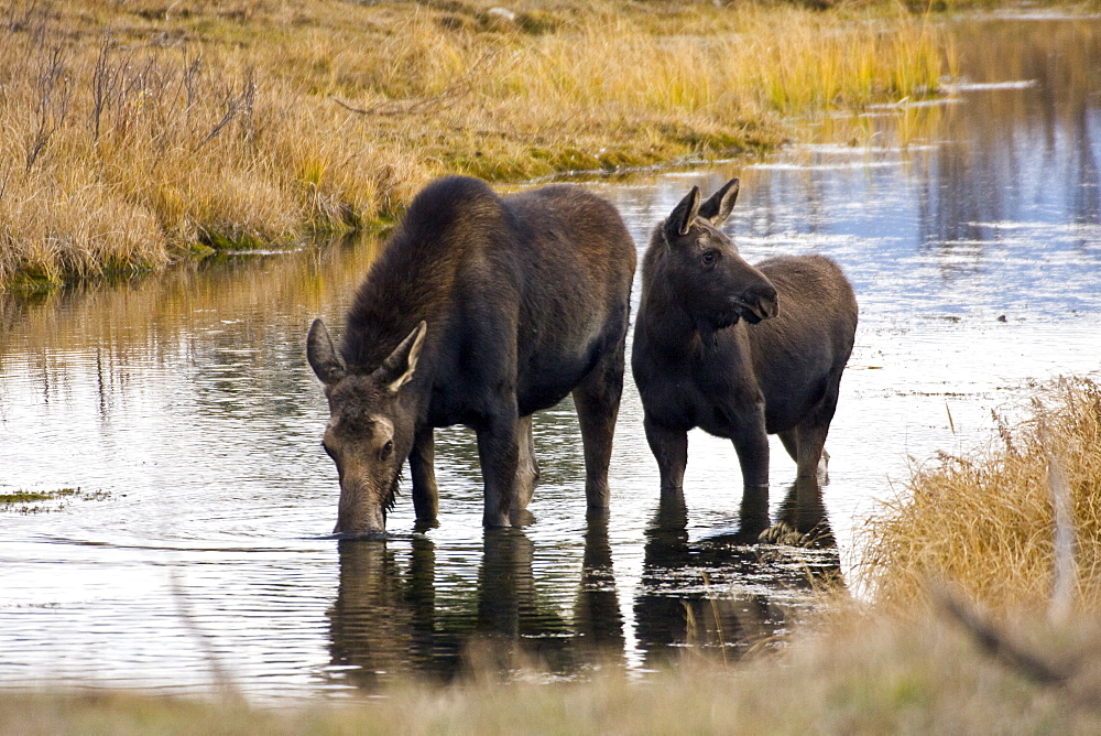
POLYGON ((570 392, 588 505, 607 508, 635 260, 615 208, 579 187, 425 187, 361 284, 339 354, 320 320, 309 329, 336 531, 385 530, 406 458, 417 521, 433 521, 433 430, 453 424, 478 436, 483 523, 519 520, 538 479, 532 413, 570 392))

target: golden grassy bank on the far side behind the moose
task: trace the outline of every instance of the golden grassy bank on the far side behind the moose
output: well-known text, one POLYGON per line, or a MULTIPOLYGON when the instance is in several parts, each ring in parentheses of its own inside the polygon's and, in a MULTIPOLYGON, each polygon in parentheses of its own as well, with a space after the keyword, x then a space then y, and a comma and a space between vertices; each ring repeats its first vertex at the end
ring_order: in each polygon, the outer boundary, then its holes
MULTIPOLYGON (((546 0, 0 9, 0 288, 155 270, 522 181, 767 148, 934 89, 904 11, 546 0)), ((948 59, 948 61, 946 61, 948 59)))

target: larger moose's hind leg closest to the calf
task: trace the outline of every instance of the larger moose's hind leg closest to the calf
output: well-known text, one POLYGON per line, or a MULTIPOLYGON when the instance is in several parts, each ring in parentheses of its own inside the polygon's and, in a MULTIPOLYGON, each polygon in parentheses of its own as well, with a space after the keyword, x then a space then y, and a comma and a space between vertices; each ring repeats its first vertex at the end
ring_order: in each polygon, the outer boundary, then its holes
POLYGON ((608 508, 608 466, 623 393, 623 349, 608 354, 574 388, 574 407, 585 445, 585 498, 590 511, 608 508))

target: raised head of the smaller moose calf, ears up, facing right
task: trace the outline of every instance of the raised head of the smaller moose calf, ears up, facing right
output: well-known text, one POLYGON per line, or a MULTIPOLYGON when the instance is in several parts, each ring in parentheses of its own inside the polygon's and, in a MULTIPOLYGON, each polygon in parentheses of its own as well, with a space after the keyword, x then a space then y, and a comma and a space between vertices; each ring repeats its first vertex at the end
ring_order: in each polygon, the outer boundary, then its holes
POLYGON ((669 285, 696 323, 712 331, 780 313, 776 288, 719 230, 734 207, 738 185, 730 180, 702 204, 699 187, 691 187, 662 225, 669 285))

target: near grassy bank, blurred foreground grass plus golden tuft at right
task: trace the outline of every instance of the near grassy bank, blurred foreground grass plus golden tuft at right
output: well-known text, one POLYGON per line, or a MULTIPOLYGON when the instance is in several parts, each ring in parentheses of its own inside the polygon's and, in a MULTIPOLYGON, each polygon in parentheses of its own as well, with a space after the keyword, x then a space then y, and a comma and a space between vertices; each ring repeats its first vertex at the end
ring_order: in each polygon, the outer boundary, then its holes
POLYGON ((998 446, 916 472, 869 522, 873 602, 839 602, 778 653, 728 665, 687 650, 642 679, 608 667, 549 684, 482 671, 277 712, 8 692, 0 733, 1097 733, 1101 386, 1060 382, 1027 413, 998 446))

